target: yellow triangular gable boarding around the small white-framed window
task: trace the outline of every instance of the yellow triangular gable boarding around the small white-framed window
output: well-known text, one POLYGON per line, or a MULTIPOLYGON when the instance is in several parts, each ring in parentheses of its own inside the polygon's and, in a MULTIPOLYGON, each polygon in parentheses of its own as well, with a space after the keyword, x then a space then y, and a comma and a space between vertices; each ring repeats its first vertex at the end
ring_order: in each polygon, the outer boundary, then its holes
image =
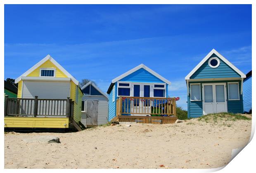
POLYGON ((56 65, 54 65, 50 60, 45 61, 42 65, 40 65, 36 70, 29 73, 27 76, 29 77, 39 77, 40 76, 40 68, 56 68, 55 77, 67 77, 56 65))

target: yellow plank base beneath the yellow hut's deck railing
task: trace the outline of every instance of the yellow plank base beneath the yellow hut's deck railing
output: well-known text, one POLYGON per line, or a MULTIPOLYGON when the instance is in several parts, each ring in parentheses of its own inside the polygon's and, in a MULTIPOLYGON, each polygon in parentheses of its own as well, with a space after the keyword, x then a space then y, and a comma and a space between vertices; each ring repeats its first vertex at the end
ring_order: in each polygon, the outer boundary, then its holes
POLYGON ((5 117, 4 121, 5 127, 11 128, 69 128, 69 118, 5 117))

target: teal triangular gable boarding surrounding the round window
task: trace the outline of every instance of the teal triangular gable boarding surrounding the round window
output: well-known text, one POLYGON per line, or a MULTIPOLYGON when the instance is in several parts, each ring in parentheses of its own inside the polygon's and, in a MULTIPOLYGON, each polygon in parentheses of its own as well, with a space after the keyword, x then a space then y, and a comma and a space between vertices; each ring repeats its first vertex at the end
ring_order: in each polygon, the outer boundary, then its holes
MULTIPOLYGON (((218 57, 213 54, 211 57, 218 57)), ((210 58, 211 58, 210 57, 210 58)), ((224 61, 220 60, 220 65, 217 68, 211 68, 208 61, 205 61, 201 67, 194 72, 190 79, 205 79, 205 78, 229 78, 229 77, 241 77, 235 70, 230 68, 224 61)))

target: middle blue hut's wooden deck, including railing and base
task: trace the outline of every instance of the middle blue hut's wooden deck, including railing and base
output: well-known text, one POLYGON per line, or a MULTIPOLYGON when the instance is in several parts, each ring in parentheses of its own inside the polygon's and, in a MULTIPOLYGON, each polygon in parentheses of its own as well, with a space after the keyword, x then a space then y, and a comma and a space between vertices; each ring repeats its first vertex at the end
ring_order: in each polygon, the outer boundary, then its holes
POLYGON ((112 122, 172 124, 177 119, 175 98, 120 96, 112 122))

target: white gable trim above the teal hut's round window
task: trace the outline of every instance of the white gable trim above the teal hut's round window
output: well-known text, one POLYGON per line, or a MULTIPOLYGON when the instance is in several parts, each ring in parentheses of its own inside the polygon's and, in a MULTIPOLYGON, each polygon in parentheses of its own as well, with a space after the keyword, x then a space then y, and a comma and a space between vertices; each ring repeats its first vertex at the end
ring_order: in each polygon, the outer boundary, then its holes
POLYGON ((224 61, 226 64, 228 64, 230 66, 230 68, 232 68, 233 70, 235 70, 239 75, 241 75, 242 78, 245 78, 246 75, 244 75, 243 72, 241 72, 238 68, 235 67, 235 65, 233 65, 232 63, 230 63, 230 61, 228 61, 226 58, 224 58, 224 56, 222 56, 220 53, 218 53, 218 51, 216 51, 215 49, 212 49, 209 54, 207 54, 204 59, 199 63, 197 64, 197 66, 185 77, 185 80, 188 80, 190 79, 190 77, 194 74, 194 72, 196 72, 200 67, 201 65, 204 64, 204 62, 207 61, 208 58, 210 58, 210 56, 212 54, 216 54, 222 61, 224 61))

